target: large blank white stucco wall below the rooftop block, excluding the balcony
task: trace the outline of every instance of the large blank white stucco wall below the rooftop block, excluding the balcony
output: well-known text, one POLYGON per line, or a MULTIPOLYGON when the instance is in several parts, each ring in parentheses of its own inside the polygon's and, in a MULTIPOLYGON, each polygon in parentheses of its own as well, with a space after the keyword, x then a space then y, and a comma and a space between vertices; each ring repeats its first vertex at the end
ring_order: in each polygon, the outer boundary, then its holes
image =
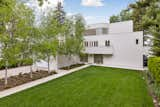
MULTIPOLYGON (((110 40, 113 54, 104 55, 103 65, 143 69, 143 32, 85 36, 84 38, 85 41, 98 41, 99 46, 105 46, 105 41, 110 40), (136 45, 136 39, 139 40, 138 45, 136 45)), ((93 60, 93 58, 89 59, 93 60)))

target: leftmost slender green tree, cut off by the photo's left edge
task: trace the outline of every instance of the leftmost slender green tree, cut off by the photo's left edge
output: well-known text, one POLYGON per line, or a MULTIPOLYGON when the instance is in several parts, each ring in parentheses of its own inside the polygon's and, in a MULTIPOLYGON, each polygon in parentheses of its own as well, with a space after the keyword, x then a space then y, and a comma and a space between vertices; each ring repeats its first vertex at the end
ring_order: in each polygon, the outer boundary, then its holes
POLYGON ((16 12, 14 12, 16 1, 6 0, 0 3, 1 58, 5 63, 5 85, 7 85, 8 66, 14 61, 17 54, 17 39, 15 35, 17 16, 16 12))

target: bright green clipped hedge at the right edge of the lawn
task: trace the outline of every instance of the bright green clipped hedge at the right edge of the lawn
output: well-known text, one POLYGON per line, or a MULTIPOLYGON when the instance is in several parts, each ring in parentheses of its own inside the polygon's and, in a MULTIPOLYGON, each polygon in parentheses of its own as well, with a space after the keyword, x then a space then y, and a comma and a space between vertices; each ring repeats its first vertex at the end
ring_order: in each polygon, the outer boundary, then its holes
POLYGON ((160 83, 160 57, 151 57, 148 61, 148 69, 157 83, 160 83))

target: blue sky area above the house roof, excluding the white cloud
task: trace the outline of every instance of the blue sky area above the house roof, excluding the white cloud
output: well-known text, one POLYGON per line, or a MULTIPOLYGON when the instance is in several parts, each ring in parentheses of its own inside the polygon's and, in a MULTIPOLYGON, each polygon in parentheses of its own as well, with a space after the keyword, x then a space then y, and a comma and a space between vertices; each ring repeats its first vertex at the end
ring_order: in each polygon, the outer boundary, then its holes
MULTIPOLYGON (((87 1, 87 0, 84 0, 87 1)), ((99 1, 100 6, 83 5, 82 0, 64 0, 64 9, 69 14, 81 13, 87 23, 108 22, 109 17, 113 14, 118 14, 122 9, 125 9, 128 4, 135 2, 135 0, 90 0, 99 1)))

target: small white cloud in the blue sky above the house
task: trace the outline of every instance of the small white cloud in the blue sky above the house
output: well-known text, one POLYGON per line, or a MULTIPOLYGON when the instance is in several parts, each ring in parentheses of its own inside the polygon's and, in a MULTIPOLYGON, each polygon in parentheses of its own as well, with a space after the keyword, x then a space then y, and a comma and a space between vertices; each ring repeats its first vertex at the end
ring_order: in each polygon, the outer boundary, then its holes
POLYGON ((89 7, 101 7, 104 6, 104 3, 102 0, 82 0, 81 4, 83 6, 89 6, 89 7))

